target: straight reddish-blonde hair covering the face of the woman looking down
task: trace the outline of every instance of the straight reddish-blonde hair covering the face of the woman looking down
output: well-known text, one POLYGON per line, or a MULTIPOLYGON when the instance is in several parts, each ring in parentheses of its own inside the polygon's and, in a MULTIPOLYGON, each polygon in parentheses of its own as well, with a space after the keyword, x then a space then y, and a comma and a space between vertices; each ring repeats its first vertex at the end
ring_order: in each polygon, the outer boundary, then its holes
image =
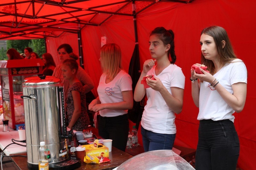
POLYGON ((119 70, 122 69, 120 47, 114 43, 102 46, 100 49, 100 61, 103 73, 106 73, 107 78, 113 80, 119 70))

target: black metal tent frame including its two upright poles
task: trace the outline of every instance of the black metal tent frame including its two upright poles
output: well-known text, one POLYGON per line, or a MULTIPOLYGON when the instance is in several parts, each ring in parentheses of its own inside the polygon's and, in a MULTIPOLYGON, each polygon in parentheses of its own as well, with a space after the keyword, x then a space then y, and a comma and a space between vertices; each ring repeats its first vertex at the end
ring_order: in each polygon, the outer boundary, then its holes
POLYGON ((4 3, 0 4, 1 6, 7 6, 7 5, 14 5, 15 7, 15 13, 6 13, 3 11, 0 11, 0 17, 1 16, 13 16, 13 21, 5 21, 5 22, 0 22, 0 27, 5 27, 5 28, 10 28, 10 32, 2 31, 0 30, 0 34, 4 35, 4 37, 1 37, 1 39, 10 39, 13 37, 24 37, 24 39, 32 39, 32 38, 46 38, 46 37, 59 37, 61 36, 64 32, 69 32, 69 33, 74 33, 77 34, 78 36, 78 44, 79 44, 79 55, 80 55, 80 63, 81 66, 83 67, 83 52, 82 52, 82 37, 81 37, 81 30, 86 27, 86 26, 100 26, 103 24, 105 21, 110 19, 114 15, 123 15, 123 16, 131 16, 133 17, 134 21, 134 34, 135 34, 135 39, 136 42, 138 43, 138 34, 137 34, 137 23, 136 23, 136 16, 141 13, 142 11, 146 10, 147 8, 151 7, 155 3, 159 2, 179 2, 179 3, 190 3, 193 0, 123 0, 120 2, 115 2, 115 3, 109 3, 109 4, 104 4, 104 5, 97 5, 97 6, 92 6, 88 8, 82 8, 82 7, 74 7, 74 6, 69 6, 69 4, 75 4, 75 3, 81 3, 85 1, 90 1, 90 0, 73 0, 73 1, 68 1, 62 0, 61 2, 56 2, 53 0, 24 0, 20 2, 16 2, 14 0, 13 3, 4 3), (132 3, 132 5, 135 5, 136 1, 148 1, 152 2, 142 8, 140 11, 136 12, 135 10, 132 10, 131 14, 126 14, 120 12, 124 7, 126 7, 128 4, 132 3), (27 9, 24 14, 19 14, 17 13, 17 4, 25 4, 27 3, 27 9), (39 8, 38 11, 35 11, 35 4, 41 4, 41 7, 39 8), (106 6, 111 6, 111 5, 122 5, 119 7, 116 11, 102 11, 99 10, 101 7, 106 7, 106 6), (27 12, 30 9, 30 6, 32 5, 32 14, 33 15, 28 15, 27 12), (52 6, 58 6, 61 7, 63 10, 68 9, 70 11, 65 10, 66 12, 61 12, 61 13, 55 13, 51 15, 43 15, 43 16, 38 16, 40 11, 45 5, 52 5, 52 6), (65 8, 65 9, 64 9, 65 8), (87 11, 90 13, 83 14, 83 15, 73 15, 75 12, 81 12, 81 11, 87 11), (70 17, 62 18, 62 19, 54 19, 56 16, 62 15, 62 14, 69 14, 70 17), (100 23, 93 23, 92 20, 97 17, 99 14, 108 14, 109 16, 106 16, 105 19, 103 19, 100 23), (82 16, 91 16, 91 18, 88 21, 84 21, 79 19, 79 17, 82 16), (21 19, 18 21, 18 17, 21 17, 21 19), (45 19, 47 21, 45 22, 40 22, 40 23, 33 23, 29 24, 26 22, 22 22, 23 18, 28 18, 28 19, 45 19), (74 19, 74 20, 70 20, 74 19), (58 21, 58 23, 54 23, 58 21), (52 23, 52 24, 51 24, 52 23), (63 24, 65 23, 74 23, 77 24, 79 27, 77 29, 71 29, 71 28, 65 28, 63 24), (45 31, 47 28, 47 31, 45 31), (13 31, 14 29, 17 29, 17 31, 13 31), (44 31, 42 31, 44 30, 44 31), (50 30, 50 31, 48 31, 50 30), (60 33, 56 33, 60 32, 60 33))

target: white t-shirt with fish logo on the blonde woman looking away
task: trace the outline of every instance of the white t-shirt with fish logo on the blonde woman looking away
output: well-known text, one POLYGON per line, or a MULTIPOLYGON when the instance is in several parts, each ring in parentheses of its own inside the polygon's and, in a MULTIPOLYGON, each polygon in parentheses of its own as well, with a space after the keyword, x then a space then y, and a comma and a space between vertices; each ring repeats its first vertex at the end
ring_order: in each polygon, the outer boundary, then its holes
MULTIPOLYGON (((105 83, 106 74, 103 73, 100 77, 100 83, 98 86, 98 95, 100 102, 103 103, 117 103, 123 101, 122 91, 132 90, 132 80, 128 73, 121 70, 116 77, 109 82, 105 83)), ((114 117, 127 114, 127 110, 110 110, 103 109, 100 111, 100 116, 114 117)))

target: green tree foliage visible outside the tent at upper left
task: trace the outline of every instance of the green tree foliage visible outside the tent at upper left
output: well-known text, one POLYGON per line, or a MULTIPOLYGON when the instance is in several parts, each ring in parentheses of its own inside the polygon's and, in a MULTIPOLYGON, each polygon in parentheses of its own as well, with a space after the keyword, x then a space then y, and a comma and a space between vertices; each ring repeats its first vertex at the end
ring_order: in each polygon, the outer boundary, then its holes
MULTIPOLYGON (((14 48, 19 53, 24 53, 24 49, 26 47, 32 48, 33 52, 36 52, 40 58, 42 57, 43 53, 46 53, 44 39, 7 40, 7 49, 14 48)), ((1 56, 2 55, 0 51, 0 57, 1 56)), ((6 56, 6 51, 5 51, 5 56, 6 56)))

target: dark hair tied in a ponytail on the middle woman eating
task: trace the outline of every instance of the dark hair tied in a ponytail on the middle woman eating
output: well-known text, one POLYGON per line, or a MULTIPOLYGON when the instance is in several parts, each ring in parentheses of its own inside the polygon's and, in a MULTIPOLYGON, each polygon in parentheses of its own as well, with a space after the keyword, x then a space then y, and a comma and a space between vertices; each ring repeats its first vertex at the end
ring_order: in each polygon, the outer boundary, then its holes
POLYGON ((155 28, 150 35, 157 34, 158 38, 163 41, 164 45, 170 44, 170 49, 168 50, 168 56, 171 57, 171 64, 174 64, 176 61, 176 55, 174 52, 174 33, 172 30, 166 30, 163 27, 155 28))

